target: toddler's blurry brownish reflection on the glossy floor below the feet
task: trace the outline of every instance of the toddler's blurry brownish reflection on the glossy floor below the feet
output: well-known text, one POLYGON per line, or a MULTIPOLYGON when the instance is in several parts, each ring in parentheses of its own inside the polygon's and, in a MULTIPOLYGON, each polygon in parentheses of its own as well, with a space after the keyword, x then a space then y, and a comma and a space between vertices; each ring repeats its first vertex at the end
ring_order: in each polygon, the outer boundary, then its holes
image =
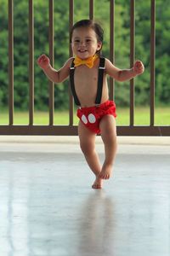
POLYGON ((94 191, 83 202, 78 229, 77 255, 113 255, 114 203, 104 190, 94 191), (107 254, 109 250, 110 254, 107 254))

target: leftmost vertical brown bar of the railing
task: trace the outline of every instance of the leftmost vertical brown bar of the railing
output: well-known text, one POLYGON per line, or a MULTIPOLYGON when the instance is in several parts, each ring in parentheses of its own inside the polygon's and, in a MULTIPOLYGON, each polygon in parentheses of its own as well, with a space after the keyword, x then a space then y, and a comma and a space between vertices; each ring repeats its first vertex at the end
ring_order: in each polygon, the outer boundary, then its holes
POLYGON ((8 118, 14 124, 14 7, 8 0, 8 118))

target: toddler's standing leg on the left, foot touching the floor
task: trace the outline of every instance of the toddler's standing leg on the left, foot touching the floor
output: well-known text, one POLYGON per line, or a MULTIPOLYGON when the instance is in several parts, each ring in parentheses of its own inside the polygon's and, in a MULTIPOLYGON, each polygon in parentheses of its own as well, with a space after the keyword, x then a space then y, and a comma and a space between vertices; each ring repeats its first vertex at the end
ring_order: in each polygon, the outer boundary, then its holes
POLYGON ((101 189, 102 187, 102 179, 99 178, 99 172, 101 172, 101 165, 99 163, 99 156, 95 150, 95 133, 89 131, 81 121, 79 121, 78 125, 78 136, 80 139, 80 147, 82 149, 82 153, 84 154, 88 166, 94 172, 96 177, 93 189, 101 189))

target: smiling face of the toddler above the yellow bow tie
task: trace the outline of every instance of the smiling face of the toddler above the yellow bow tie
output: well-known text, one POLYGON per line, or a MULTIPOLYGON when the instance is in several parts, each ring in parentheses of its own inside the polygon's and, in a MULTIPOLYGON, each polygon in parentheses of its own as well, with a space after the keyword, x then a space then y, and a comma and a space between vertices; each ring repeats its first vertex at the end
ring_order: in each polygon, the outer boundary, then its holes
POLYGON ((101 49, 102 43, 98 42, 92 28, 78 27, 72 33, 71 46, 73 54, 83 60, 95 55, 96 51, 101 49))

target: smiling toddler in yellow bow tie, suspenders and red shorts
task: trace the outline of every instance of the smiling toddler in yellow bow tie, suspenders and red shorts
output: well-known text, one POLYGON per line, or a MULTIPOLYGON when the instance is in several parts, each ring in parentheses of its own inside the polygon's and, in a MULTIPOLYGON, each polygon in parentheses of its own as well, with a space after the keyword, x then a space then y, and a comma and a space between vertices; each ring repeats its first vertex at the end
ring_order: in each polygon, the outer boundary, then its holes
POLYGON ((70 76, 71 90, 79 120, 78 136, 82 153, 94 172, 93 189, 101 189, 103 179, 109 179, 116 156, 116 105, 109 100, 106 76, 126 81, 144 72, 141 61, 130 69, 115 67, 100 56, 103 29, 94 20, 80 20, 71 29, 71 48, 74 57, 63 67, 51 67, 47 55, 39 56, 37 63, 54 83, 61 83, 70 76), (101 166, 95 150, 95 137, 101 135, 105 145, 105 160, 101 166))

